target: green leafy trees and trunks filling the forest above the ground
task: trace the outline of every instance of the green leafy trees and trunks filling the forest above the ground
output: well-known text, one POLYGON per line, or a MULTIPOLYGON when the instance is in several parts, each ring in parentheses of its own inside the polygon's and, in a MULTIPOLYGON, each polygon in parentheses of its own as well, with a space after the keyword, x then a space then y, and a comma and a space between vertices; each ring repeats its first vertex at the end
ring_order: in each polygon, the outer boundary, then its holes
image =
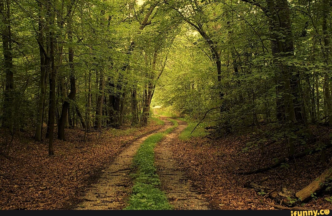
POLYGON ((5 134, 34 128, 52 155, 65 128, 146 125, 152 101, 209 122, 213 136, 276 131, 272 139, 293 155, 310 125, 332 124, 330 8, 326 0, 4 0, 1 125, 5 134))

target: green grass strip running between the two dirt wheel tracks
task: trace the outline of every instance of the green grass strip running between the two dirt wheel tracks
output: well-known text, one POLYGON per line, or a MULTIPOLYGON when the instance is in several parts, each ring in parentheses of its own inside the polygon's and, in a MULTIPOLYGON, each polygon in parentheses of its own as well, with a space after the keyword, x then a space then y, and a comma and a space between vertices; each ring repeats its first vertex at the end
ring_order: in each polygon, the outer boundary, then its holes
POLYGON ((170 133, 178 123, 169 119, 174 126, 163 133, 149 136, 139 147, 133 158, 133 166, 137 169, 132 194, 126 210, 169 210, 172 206, 168 203, 166 194, 160 190, 160 179, 154 166, 154 147, 164 136, 170 133))

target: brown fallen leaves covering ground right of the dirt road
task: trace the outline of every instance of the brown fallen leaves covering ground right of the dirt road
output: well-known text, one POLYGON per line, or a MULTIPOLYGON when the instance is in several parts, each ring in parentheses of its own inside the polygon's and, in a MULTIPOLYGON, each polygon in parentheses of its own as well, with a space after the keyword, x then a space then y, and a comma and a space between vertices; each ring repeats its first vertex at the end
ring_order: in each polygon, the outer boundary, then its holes
MULTIPOLYGON (((322 128, 320 131, 315 130, 313 136, 320 142, 326 142, 329 132, 326 128, 322 128)), ((264 181, 266 187, 294 194, 332 166, 332 149, 328 149, 325 152, 326 165, 322 163, 321 154, 317 153, 296 159, 295 162, 290 161, 289 169, 279 167, 259 174, 240 175, 242 170, 249 171, 273 164, 273 158, 287 155, 285 144, 276 142, 267 144, 264 153, 260 152, 259 147, 243 153, 242 149, 249 141, 251 138, 248 134, 228 135, 217 141, 193 138, 174 143, 174 154, 186 168, 187 175, 193 180, 198 192, 209 200, 212 209, 274 209, 272 205, 280 203, 275 203, 266 194, 260 195, 254 189, 244 187, 244 184, 247 181, 259 181, 268 177, 268 180, 264 181)), ((314 148, 317 143, 308 145, 309 148, 314 148)), ((303 145, 296 146, 297 153, 303 150, 303 145)), ((302 207, 332 208, 332 204, 324 199, 331 194, 324 191, 316 196, 318 198, 310 200, 302 207)), ((289 205, 287 198, 282 205, 289 205)))

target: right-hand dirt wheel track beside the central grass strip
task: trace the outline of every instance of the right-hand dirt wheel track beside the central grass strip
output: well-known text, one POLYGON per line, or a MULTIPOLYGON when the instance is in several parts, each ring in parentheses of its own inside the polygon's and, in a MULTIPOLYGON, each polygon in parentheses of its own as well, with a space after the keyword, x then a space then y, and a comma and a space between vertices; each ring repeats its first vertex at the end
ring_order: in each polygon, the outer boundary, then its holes
POLYGON ((155 148, 155 164, 162 182, 162 190, 166 193, 174 209, 206 210, 208 203, 202 198, 186 178, 184 168, 179 166, 178 160, 171 149, 179 133, 186 128, 186 123, 178 121, 179 126, 169 133, 155 148))

